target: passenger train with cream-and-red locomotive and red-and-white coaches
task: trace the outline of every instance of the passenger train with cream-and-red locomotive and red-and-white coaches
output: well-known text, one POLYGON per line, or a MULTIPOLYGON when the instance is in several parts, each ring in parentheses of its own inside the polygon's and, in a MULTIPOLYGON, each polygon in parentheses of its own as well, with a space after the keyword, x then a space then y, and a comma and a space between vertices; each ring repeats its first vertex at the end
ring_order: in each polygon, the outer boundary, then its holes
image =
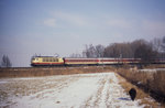
POLYGON ((31 60, 31 66, 74 66, 74 65, 116 65, 138 64, 141 58, 72 58, 54 56, 35 56, 31 60))

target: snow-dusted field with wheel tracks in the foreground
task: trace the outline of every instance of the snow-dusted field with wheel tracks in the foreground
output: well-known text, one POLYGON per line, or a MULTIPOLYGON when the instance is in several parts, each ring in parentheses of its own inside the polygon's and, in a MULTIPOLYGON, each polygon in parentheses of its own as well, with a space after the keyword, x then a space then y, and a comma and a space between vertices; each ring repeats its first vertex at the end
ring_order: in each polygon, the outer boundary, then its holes
POLYGON ((114 73, 0 79, 0 107, 132 108, 114 73))

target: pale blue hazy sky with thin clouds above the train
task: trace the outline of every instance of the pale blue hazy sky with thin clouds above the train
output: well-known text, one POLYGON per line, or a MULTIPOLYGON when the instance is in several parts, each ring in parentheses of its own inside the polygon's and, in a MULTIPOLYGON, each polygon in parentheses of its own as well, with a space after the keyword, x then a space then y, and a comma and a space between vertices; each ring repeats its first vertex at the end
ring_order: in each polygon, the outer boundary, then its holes
POLYGON ((85 44, 165 35, 165 0, 0 0, 0 60, 30 66, 36 54, 62 57, 85 44))

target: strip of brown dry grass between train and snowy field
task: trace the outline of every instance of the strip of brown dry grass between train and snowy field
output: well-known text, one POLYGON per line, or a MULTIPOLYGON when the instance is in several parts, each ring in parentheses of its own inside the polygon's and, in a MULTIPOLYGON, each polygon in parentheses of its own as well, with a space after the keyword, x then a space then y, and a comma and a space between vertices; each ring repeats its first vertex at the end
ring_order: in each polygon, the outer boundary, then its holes
POLYGON ((114 71, 114 68, 111 66, 0 68, 0 78, 87 74, 112 71, 114 71))

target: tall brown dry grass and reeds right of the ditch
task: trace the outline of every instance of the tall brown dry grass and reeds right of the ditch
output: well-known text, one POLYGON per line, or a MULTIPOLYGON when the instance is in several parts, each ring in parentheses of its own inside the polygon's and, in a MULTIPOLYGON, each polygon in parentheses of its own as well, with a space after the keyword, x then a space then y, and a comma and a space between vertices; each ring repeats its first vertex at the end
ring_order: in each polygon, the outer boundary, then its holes
MULTIPOLYGON (((157 101, 165 104, 165 72, 139 72, 138 69, 120 68, 119 75, 150 94, 157 101)), ((141 96, 143 97, 143 96, 141 96)), ((165 107, 165 105, 164 105, 165 107)))

